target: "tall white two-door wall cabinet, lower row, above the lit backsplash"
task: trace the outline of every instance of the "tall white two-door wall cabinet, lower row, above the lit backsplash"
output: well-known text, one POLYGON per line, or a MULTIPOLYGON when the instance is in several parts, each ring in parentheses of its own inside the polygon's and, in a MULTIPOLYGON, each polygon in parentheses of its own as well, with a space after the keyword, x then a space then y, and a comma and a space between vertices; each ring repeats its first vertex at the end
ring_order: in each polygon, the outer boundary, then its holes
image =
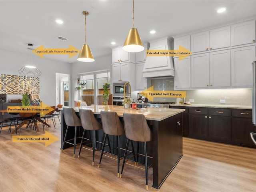
POLYGON ((230 65, 230 50, 192 55, 191 87, 230 87, 230 65))

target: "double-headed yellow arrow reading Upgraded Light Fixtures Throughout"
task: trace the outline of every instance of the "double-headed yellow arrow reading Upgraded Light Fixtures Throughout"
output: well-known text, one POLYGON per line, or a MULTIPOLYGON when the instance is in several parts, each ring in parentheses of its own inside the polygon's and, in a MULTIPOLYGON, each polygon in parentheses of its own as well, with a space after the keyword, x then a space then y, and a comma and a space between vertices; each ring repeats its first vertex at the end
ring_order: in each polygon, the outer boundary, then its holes
POLYGON ((69 45, 69 48, 59 49, 59 48, 44 48, 44 45, 39 46, 38 48, 32 50, 32 52, 42 58, 45 54, 56 55, 56 54, 68 54, 69 58, 80 53, 80 50, 69 45))

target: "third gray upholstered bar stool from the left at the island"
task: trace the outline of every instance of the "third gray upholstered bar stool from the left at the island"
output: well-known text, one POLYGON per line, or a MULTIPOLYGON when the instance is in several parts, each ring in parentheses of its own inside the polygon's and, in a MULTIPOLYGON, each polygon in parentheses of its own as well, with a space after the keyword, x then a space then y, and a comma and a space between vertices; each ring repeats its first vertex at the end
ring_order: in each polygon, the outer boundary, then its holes
MULTIPOLYGON (((120 135, 125 135, 124 126, 121 123, 116 112, 101 111, 100 115, 101 115, 101 123, 102 123, 103 132, 105 133, 104 143, 103 143, 102 152, 101 152, 101 156, 100 156, 100 162, 102 160, 104 148, 106 146, 105 145, 106 138, 108 138, 108 135, 117 136, 117 177, 119 177, 120 135)), ((107 152, 111 152, 112 150, 116 149, 116 148, 111 149, 109 141, 108 141, 108 146, 109 146, 109 150, 107 152)), ((100 167, 100 162, 99 162, 98 167, 100 167)))

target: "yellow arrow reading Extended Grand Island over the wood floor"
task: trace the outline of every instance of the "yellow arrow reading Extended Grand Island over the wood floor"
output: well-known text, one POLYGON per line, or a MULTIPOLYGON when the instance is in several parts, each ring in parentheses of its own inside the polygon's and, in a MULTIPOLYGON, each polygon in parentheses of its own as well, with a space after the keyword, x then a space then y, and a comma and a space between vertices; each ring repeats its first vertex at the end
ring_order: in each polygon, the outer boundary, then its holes
POLYGON ((46 147, 58 140, 58 137, 48 133, 47 131, 45 132, 45 135, 12 136, 12 142, 45 142, 44 145, 46 147))

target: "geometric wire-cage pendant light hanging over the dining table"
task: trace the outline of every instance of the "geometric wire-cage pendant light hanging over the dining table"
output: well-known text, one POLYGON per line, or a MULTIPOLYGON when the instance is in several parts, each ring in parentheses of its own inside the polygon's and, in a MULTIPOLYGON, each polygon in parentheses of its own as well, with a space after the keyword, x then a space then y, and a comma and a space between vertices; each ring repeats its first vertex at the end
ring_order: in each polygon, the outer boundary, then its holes
MULTIPOLYGON (((33 44, 29 43, 28 46, 33 46, 33 44)), ((24 76, 39 77, 42 72, 37 67, 32 66, 34 65, 34 55, 29 50, 31 50, 31 48, 28 48, 27 64, 19 70, 19 74, 24 76)))

